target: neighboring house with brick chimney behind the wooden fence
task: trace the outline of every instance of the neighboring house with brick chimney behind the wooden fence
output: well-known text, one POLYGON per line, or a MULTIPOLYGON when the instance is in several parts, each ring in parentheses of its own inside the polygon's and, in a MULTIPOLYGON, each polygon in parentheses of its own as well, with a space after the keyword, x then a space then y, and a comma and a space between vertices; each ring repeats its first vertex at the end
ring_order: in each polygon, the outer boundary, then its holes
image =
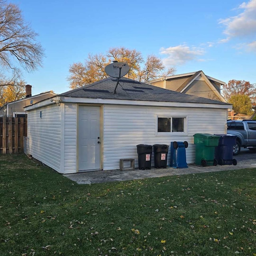
POLYGON ((31 85, 26 85, 26 98, 7 102, 4 104, 4 106, 0 107, 0 117, 25 117, 26 111, 24 110, 24 107, 56 95, 54 92, 43 92, 41 94, 32 96, 31 88, 31 85))

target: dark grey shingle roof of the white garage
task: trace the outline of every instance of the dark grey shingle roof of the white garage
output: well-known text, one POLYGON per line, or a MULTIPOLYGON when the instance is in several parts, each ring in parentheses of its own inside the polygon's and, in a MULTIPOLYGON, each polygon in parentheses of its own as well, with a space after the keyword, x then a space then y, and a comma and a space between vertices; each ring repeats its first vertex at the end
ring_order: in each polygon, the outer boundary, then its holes
POLYGON ((145 100, 157 102, 187 102, 224 105, 227 104, 225 102, 166 90, 124 77, 120 78, 116 90, 117 93, 114 94, 116 84, 117 79, 109 77, 93 84, 88 84, 86 86, 64 92, 62 94, 59 94, 59 96, 115 100, 145 100))

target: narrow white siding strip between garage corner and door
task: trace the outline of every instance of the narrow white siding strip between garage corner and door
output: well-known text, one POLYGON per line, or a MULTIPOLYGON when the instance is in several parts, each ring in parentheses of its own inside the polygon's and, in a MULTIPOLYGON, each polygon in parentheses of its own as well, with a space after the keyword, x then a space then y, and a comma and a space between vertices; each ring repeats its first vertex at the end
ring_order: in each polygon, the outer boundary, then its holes
POLYGON ((65 104, 64 173, 76 172, 76 104, 65 104))

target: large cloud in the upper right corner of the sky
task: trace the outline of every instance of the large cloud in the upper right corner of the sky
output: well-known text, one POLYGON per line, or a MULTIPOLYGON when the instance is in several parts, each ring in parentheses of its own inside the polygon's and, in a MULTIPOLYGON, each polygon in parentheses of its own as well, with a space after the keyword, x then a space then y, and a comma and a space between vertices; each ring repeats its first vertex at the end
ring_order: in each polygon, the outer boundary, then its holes
POLYGON ((219 21, 226 29, 224 34, 227 38, 222 42, 227 42, 230 38, 234 37, 252 37, 256 33, 256 0, 250 0, 248 3, 243 2, 238 9, 244 11, 237 16, 229 17, 219 21))

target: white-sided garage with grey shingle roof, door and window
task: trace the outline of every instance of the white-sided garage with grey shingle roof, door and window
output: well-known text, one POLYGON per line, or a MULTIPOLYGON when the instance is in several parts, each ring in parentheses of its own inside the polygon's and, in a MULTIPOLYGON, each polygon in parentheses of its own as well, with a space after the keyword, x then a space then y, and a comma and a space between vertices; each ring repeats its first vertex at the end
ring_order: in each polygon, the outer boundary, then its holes
POLYGON ((137 144, 187 141, 193 163, 195 133, 226 132, 230 104, 124 77, 114 94, 116 84, 106 78, 27 106, 28 154, 67 174, 119 169, 122 158, 137 167, 137 144))

